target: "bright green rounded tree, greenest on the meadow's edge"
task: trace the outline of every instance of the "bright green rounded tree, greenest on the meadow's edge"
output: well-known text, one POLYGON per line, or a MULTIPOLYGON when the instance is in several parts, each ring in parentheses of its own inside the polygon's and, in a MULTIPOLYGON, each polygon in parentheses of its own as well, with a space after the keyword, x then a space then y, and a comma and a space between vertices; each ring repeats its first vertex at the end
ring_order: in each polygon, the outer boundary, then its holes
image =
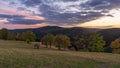
POLYGON ((100 34, 94 33, 90 36, 89 39, 89 51, 100 52, 104 50, 103 47, 105 45, 105 41, 103 40, 103 37, 100 34))

